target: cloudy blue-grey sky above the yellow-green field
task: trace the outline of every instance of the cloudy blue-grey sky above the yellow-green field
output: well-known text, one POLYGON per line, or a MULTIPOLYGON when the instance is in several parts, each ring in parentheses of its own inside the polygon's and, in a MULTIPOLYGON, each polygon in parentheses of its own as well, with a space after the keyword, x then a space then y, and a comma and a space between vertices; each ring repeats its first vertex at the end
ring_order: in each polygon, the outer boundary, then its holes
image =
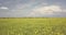
POLYGON ((0 18, 66 18, 66 0, 0 0, 0 18))

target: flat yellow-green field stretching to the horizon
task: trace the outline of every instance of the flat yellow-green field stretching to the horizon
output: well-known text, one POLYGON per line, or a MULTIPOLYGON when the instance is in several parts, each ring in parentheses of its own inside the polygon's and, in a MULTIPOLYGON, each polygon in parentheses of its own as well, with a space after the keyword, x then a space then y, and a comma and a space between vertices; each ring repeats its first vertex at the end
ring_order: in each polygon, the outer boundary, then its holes
POLYGON ((66 35, 66 18, 0 19, 0 35, 66 35))

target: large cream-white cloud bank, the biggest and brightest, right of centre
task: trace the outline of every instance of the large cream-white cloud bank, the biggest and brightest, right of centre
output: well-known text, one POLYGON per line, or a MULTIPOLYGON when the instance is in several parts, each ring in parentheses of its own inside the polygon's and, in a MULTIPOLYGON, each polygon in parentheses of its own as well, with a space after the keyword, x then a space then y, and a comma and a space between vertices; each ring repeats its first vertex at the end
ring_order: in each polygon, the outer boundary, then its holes
POLYGON ((40 7, 32 10, 32 12, 28 16, 35 16, 40 14, 54 14, 54 12, 62 12, 59 5, 47 5, 47 7, 40 7))

